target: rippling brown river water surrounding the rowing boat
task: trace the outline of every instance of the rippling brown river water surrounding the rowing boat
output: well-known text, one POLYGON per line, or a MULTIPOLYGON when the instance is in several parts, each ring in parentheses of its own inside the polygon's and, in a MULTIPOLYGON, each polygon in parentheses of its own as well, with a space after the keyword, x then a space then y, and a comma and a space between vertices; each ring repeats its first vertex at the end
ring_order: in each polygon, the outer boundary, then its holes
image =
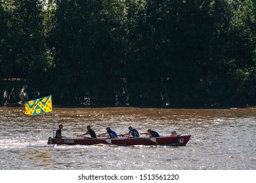
POLYGON ((91 125, 123 134, 132 125, 192 135, 186 146, 48 145, 51 113, 0 107, 0 169, 256 169, 256 107, 228 109, 54 108, 54 131, 75 137, 91 125))

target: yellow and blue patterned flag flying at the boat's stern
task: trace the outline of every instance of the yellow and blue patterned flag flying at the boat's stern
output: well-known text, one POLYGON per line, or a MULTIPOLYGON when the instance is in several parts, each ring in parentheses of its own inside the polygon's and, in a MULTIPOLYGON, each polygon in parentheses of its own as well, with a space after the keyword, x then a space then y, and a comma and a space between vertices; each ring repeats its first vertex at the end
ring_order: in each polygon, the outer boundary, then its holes
POLYGON ((44 114, 46 112, 51 112, 52 110, 52 95, 28 101, 25 104, 25 114, 28 115, 44 114))

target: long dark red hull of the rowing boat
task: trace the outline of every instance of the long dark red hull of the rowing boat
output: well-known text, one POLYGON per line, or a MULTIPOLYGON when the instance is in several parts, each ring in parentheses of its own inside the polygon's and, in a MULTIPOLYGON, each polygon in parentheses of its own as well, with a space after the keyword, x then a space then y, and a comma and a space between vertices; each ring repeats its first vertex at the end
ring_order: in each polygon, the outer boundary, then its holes
POLYGON ((178 135, 178 136, 162 136, 162 137, 139 137, 127 138, 119 137, 117 139, 106 138, 63 138, 55 139, 49 137, 48 144, 68 144, 68 145, 93 145, 93 144, 116 144, 116 145, 166 145, 166 146, 185 146, 190 140, 191 135, 178 135))

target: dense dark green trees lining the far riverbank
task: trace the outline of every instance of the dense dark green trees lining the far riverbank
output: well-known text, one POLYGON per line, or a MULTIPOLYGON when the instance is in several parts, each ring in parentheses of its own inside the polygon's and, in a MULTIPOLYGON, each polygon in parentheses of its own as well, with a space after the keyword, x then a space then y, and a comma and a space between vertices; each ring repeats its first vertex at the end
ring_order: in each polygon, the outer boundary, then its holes
POLYGON ((0 78, 29 99, 256 105, 255 63, 255 0, 0 0, 0 78))

